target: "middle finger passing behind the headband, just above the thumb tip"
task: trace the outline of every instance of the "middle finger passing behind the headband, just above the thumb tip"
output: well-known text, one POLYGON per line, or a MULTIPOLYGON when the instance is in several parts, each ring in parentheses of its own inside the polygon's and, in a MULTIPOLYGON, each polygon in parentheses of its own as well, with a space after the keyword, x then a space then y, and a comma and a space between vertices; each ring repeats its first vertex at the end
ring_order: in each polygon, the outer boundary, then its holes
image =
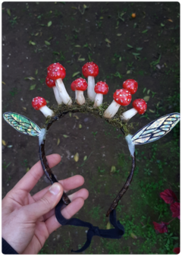
MULTIPOLYGON (((79 188, 84 184, 84 182, 84 178, 81 175, 74 175, 73 177, 59 181, 59 183, 61 183, 61 185, 63 186, 65 192, 71 189, 79 188)), ((38 201, 49 190, 49 188, 50 186, 34 194, 33 199, 35 201, 38 201)))

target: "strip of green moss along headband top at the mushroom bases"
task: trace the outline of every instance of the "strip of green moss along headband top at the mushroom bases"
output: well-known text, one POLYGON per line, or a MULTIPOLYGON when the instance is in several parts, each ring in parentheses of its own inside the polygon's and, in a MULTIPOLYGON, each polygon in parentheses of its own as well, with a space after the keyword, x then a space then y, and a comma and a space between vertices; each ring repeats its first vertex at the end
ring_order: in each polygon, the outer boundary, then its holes
MULTIPOLYGON (((91 102, 89 99, 86 99, 86 103, 82 106, 80 106, 76 102, 74 102, 74 104, 71 106, 61 104, 59 106, 52 106, 51 109, 54 111, 55 116, 58 116, 58 118, 63 117, 68 112, 80 112, 80 113, 90 113, 90 114, 94 115, 96 118, 105 119, 103 117, 103 114, 105 112, 105 109, 107 109, 109 105, 110 104, 108 104, 108 103, 103 103, 98 108, 93 108, 93 102, 91 102)), ((127 122, 121 121, 120 116, 125 111, 126 111, 126 109, 124 109, 121 106, 120 109, 118 110, 118 112, 116 113, 116 115, 112 119, 105 119, 105 121, 114 127, 122 128, 125 135, 127 136, 127 134, 130 134, 130 130, 133 129, 133 124, 132 123, 128 124, 127 122)), ((52 121, 54 119, 55 118, 48 117, 45 122, 45 127, 47 125, 49 125, 50 123, 52 123, 52 121)))

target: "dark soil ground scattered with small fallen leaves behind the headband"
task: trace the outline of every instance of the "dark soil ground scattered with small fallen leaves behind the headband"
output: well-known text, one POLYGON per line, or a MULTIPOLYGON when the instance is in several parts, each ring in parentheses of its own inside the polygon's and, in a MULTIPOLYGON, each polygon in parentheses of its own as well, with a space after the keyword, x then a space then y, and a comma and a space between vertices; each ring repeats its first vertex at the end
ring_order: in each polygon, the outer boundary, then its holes
MULTIPOLYGON (((133 100, 150 98, 147 115, 144 118, 136 115, 130 121, 133 133, 158 116, 181 111, 177 109, 177 102, 168 102, 169 96, 181 93, 177 78, 181 67, 180 8, 178 1, 2 1, 0 137, 5 144, 0 145, 0 200, 39 160, 37 138, 19 134, 4 121, 2 114, 17 112, 39 127, 44 125, 44 116, 32 108, 31 102, 33 97, 42 96, 49 106, 56 104, 52 89, 45 85, 46 68, 53 62, 60 62, 66 68, 64 84, 72 99, 74 92, 70 84, 81 76, 84 63, 91 60, 99 65, 96 81, 106 81, 109 86, 105 102, 111 103, 113 93, 122 87, 123 81, 135 79, 139 88, 133 100), (132 13, 136 13, 135 18, 131 17, 132 13), (52 21, 50 27, 49 21, 52 21)), ((105 120, 77 113, 52 125, 46 137, 46 154, 59 153, 62 157, 61 163, 52 169, 58 179, 76 174, 85 179, 83 188, 89 190, 89 198, 76 216, 101 228, 105 228, 108 220, 103 216, 130 169, 127 144, 119 134, 121 131, 105 120), (77 163, 75 153, 80 156, 77 163), (120 179, 109 173, 111 166, 118 167, 118 153, 125 157, 124 175, 120 175, 120 179), (84 156, 88 157, 86 161, 84 156), (94 219, 92 210, 98 206, 102 216, 94 219)), ((171 140, 172 135, 168 134, 163 144, 168 145, 171 140)), ((144 148, 147 153, 151 145, 144 148)), ((172 175, 171 182, 179 179, 176 176, 179 173, 180 169, 172 175)), ((42 176, 31 193, 48 184, 42 176)), ((129 189, 124 196, 126 212, 131 194, 129 189)), ((71 248, 83 244, 85 236, 82 228, 66 226, 53 232, 47 249, 50 254, 59 254, 65 247, 61 238, 66 237, 69 242, 64 253, 71 254, 71 248)), ((132 242, 128 246, 132 251, 132 242)), ((96 237, 91 248, 93 254, 108 254, 96 237)))

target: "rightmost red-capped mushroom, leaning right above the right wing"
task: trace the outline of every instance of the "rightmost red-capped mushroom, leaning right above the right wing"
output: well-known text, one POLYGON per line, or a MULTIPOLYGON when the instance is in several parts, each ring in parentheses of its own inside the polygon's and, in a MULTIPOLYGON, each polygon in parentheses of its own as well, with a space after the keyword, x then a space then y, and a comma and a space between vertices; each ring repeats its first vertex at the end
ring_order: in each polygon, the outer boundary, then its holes
POLYGON ((133 117, 133 115, 136 115, 137 113, 143 115, 147 109, 147 103, 143 99, 134 100, 132 106, 133 109, 129 109, 126 112, 124 112, 121 115, 121 119, 129 120, 133 117))

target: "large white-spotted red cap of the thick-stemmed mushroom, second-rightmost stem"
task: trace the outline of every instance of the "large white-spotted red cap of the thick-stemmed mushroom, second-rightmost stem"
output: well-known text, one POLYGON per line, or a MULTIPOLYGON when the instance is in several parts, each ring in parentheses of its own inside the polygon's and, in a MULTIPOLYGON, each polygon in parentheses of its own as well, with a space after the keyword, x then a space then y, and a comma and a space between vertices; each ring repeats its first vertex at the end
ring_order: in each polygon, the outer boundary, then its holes
POLYGON ((121 106, 127 106, 131 102, 131 93, 129 90, 119 89, 115 91, 113 99, 121 106))

